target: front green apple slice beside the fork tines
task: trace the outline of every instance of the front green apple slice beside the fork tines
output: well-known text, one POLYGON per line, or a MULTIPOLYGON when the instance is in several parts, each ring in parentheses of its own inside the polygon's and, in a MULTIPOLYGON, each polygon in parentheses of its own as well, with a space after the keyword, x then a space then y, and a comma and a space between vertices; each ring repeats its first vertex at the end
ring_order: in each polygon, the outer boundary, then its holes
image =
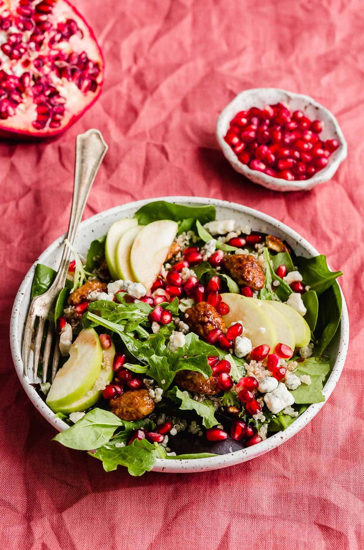
POLYGON ((85 395, 100 376, 102 347, 97 332, 84 328, 70 348, 70 357, 55 375, 46 403, 54 411, 85 395))

